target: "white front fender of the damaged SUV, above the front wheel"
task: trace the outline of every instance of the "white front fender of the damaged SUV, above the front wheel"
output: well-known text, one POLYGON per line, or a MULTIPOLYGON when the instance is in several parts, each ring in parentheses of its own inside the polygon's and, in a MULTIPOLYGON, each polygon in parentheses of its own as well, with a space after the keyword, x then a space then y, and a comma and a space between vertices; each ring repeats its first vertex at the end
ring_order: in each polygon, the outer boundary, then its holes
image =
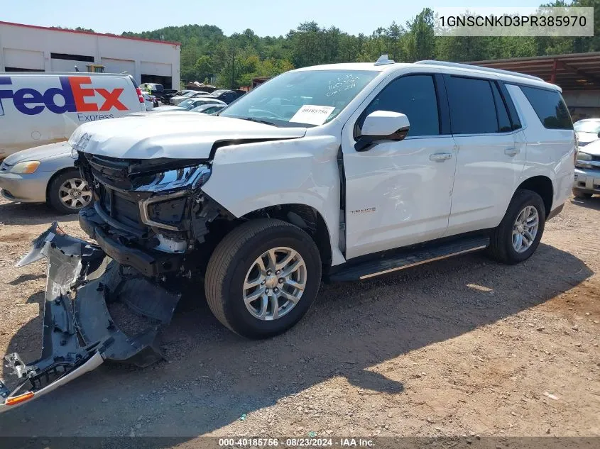
POLYGON ((239 218, 280 204, 316 209, 329 231, 332 265, 343 263, 339 238, 339 138, 312 136, 229 145, 214 153, 212 174, 202 187, 239 218))

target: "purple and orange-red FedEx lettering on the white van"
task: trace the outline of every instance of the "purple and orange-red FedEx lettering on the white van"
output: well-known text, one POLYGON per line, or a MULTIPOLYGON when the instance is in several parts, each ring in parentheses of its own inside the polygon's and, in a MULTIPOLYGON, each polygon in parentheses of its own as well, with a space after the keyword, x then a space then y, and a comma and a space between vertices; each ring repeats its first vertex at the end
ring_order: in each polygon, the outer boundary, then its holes
POLYGON ((5 87, 12 85, 11 77, 0 77, 0 116, 4 114, 3 99, 12 99, 15 108, 28 116, 36 116, 45 108, 53 113, 99 112, 110 111, 113 108, 117 111, 127 111, 127 107, 119 101, 119 96, 125 89, 89 87, 89 84, 92 84, 90 77, 58 78, 60 87, 50 87, 45 92, 38 92, 31 87, 23 87, 16 91, 6 89, 5 87), (93 101, 96 94, 102 98, 100 103, 93 101))

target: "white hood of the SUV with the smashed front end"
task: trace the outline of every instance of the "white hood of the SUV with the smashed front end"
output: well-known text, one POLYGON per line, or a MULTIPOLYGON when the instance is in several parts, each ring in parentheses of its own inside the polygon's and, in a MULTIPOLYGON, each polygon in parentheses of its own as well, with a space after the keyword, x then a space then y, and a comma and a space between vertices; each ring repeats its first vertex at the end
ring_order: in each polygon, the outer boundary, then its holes
POLYGON ((75 149, 122 159, 207 159, 215 142, 300 138, 306 128, 277 128, 202 113, 128 116, 84 123, 69 139, 75 149))

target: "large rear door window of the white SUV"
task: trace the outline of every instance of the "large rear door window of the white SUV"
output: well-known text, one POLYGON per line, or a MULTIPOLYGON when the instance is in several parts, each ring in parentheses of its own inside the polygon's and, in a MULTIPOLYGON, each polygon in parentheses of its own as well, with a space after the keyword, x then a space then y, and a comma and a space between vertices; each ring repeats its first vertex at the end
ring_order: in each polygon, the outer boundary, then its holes
POLYGON ((500 132, 501 126, 489 81, 452 76, 445 79, 452 134, 500 132))

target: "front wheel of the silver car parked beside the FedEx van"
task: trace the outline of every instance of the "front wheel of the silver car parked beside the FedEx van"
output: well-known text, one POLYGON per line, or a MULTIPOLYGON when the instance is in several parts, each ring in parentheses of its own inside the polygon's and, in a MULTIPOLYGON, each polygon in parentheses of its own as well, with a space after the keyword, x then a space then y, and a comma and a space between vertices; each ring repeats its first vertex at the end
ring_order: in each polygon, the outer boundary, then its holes
POLYGON ((60 214, 75 214, 92 202, 92 191, 79 170, 67 170, 50 182, 48 201, 60 214))

